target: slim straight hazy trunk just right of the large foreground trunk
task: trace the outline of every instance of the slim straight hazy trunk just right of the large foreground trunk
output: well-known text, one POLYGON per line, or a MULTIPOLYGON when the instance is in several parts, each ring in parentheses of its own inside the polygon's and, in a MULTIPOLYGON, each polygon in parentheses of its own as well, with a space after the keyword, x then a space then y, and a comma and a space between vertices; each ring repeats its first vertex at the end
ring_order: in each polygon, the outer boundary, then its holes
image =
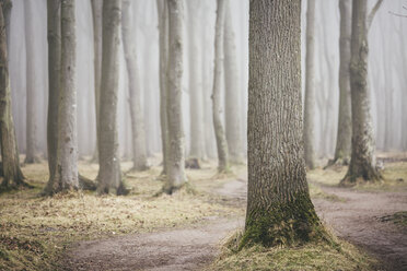
POLYGON ((304 151, 305 164, 315 167, 315 0, 306 7, 306 55, 305 55, 305 101, 304 101, 304 151))

